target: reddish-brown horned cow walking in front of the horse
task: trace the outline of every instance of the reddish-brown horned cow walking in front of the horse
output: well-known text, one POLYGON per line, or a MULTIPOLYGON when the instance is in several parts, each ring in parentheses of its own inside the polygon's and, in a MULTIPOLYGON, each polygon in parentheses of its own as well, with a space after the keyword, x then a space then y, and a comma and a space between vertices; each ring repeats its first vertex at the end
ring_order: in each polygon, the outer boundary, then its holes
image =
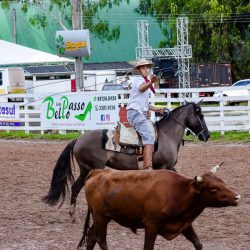
POLYGON ((85 185, 88 213, 78 249, 86 240, 87 249, 98 242, 107 250, 111 220, 134 233, 145 228, 147 250, 154 249, 158 234, 167 240, 183 234, 195 249, 202 249, 192 222, 206 207, 236 206, 240 200, 240 195, 214 174, 217 168, 194 179, 169 170, 91 171, 85 185), (93 225, 89 228, 90 212, 93 225))

